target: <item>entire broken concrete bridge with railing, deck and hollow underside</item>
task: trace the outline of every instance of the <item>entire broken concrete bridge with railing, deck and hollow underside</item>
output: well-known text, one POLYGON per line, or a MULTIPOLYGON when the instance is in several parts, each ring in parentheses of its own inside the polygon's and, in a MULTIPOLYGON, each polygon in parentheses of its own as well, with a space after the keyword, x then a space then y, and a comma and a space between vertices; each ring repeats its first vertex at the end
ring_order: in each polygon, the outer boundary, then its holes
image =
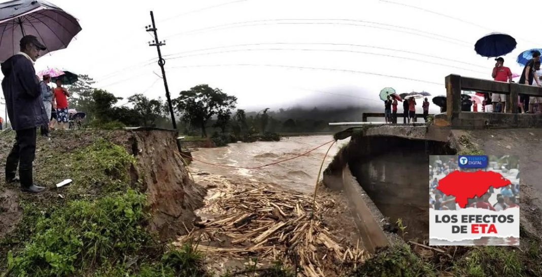
POLYGON ((431 125, 366 122, 375 114, 362 122, 330 123, 350 125, 337 137, 351 141, 325 170, 324 182, 349 198, 369 251, 403 239, 390 232, 398 218, 408 226, 406 240, 428 238, 429 155, 520 156, 520 221, 524 230, 539 234, 542 114, 518 114, 515 107, 518 93, 542 97, 542 88, 449 75, 446 89, 447 112, 434 115, 431 125), (507 95, 506 113, 461 111, 461 92, 467 90, 507 95))

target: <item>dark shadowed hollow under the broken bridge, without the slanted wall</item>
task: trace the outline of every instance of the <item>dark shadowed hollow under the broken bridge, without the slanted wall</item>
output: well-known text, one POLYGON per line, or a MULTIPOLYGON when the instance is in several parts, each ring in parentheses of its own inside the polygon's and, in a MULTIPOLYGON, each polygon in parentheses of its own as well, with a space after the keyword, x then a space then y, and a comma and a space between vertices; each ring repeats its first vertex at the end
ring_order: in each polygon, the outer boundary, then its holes
POLYGON ((378 136, 365 141, 370 159, 349 160, 352 175, 391 223, 402 219, 407 227, 405 239, 429 238, 429 159, 425 153, 454 151, 437 141, 378 136))

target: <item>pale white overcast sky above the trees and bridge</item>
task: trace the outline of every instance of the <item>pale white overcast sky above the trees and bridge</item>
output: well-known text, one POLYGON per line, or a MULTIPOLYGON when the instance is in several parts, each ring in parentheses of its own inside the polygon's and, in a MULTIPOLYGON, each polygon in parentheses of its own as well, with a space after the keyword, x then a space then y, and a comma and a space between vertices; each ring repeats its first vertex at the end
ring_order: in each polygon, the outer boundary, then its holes
POLYGON ((160 40, 166 40, 162 53, 172 97, 209 84, 237 96, 238 107, 248 110, 382 106, 378 92, 388 86, 442 95, 448 74, 491 79, 495 61, 474 52, 476 40, 488 33, 518 41, 504 56, 514 73, 522 70, 515 63, 520 52, 541 47, 534 43, 540 32, 525 23, 533 1, 391 1, 53 0, 80 20, 82 31, 67 49, 40 58, 36 71, 88 74, 119 97, 165 98, 156 47, 148 46, 152 38, 144 29, 150 10, 160 40), (238 22, 248 23, 232 24, 238 22))

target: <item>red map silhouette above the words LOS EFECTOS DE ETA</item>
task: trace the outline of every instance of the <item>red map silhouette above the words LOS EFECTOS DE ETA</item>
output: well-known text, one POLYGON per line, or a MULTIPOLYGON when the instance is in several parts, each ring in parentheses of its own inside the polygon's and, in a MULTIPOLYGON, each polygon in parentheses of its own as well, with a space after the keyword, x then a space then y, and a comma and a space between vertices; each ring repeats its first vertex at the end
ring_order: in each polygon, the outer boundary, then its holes
POLYGON ((481 197, 489 190, 512 184, 500 173, 493 171, 454 171, 438 181, 437 190, 448 196, 455 196, 455 203, 464 208, 469 198, 481 197))

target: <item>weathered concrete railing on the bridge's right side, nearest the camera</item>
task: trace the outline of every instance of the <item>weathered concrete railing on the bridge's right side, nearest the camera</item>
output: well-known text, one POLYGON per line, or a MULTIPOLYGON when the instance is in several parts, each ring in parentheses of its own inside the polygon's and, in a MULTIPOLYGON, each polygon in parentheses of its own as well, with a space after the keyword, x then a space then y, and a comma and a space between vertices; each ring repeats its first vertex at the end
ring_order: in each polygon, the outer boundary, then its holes
POLYGON ((500 81, 461 77, 451 74, 446 77, 446 112, 449 120, 461 112, 461 91, 492 92, 506 95, 506 112, 518 111, 518 95, 542 97, 542 87, 505 83, 500 81))

